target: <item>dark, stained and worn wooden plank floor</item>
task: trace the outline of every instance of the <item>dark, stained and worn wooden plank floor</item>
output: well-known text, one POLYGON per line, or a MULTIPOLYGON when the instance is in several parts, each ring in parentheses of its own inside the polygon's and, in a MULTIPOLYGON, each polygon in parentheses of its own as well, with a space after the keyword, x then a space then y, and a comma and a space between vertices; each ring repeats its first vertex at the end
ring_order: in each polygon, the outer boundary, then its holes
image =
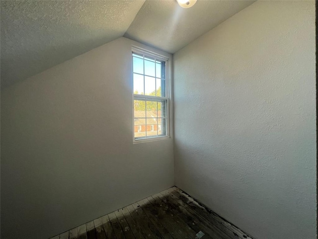
POLYGON ((251 239, 176 187, 51 239, 251 239))

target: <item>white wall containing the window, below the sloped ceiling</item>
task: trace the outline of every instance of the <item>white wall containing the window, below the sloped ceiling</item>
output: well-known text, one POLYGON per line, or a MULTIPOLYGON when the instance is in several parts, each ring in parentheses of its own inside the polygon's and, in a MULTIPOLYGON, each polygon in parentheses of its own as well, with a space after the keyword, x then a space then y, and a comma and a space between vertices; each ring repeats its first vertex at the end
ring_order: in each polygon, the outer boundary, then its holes
POLYGON ((1 91, 1 238, 48 238, 173 186, 172 139, 133 144, 132 44, 1 91))

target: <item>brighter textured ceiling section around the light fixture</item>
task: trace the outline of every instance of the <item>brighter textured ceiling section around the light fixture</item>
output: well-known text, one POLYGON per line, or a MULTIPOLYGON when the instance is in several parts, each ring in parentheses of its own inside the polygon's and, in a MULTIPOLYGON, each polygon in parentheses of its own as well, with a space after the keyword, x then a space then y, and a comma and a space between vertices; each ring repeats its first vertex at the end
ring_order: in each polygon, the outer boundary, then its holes
POLYGON ((125 37, 174 53, 253 0, 198 0, 190 8, 176 1, 145 1, 125 37))

